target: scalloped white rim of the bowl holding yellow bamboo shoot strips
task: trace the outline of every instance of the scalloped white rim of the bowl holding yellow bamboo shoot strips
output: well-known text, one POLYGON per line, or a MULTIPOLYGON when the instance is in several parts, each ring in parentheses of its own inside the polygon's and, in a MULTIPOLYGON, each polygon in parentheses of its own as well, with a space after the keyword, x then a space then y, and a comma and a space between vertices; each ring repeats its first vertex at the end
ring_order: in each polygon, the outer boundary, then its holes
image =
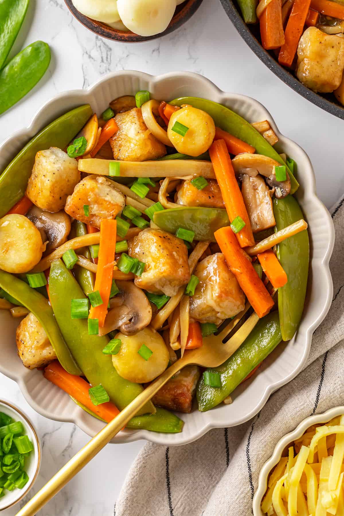
POLYGON ((318 423, 327 423, 332 420, 333 417, 344 414, 344 407, 334 407, 333 409, 327 410, 323 414, 317 414, 315 416, 306 417, 305 420, 296 427, 292 432, 287 433, 279 442, 276 444, 273 454, 270 459, 266 461, 264 466, 261 468, 258 478, 258 488, 253 497, 253 516, 265 516, 264 512, 260 509, 261 501, 264 498, 266 489, 268 486, 268 477, 273 467, 280 461, 283 450, 296 439, 299 439, 307 428, 316 425, 318 423))

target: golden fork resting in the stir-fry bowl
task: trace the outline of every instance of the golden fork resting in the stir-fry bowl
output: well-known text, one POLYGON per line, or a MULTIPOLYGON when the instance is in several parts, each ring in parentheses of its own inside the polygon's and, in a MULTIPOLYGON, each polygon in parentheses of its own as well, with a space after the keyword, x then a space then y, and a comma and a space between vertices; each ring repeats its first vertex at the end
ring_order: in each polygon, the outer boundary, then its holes
POLYGON ((203 346, 186 351, 183 358, 172 364, 156 378, 144 391, 129 403, 113 420, 93 437, 42 489, 17 513, 16 516, 34 516, 55 494, 57 494, 116 434, 135 416, 154 394, 178 371, 186 365, 217 367, 223 364, 238 348, 257 324, 259 317, 254 312, 224 344, 223 340, 251 307, 250 303, 218 333, 203 338, 203 346))

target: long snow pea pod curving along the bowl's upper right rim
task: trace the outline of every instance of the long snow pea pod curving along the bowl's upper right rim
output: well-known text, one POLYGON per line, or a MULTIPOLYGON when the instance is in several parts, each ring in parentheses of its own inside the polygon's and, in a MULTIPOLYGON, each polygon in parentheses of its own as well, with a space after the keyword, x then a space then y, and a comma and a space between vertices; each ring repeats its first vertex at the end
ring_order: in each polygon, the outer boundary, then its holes
MULTIPOLYGON (((227 133, 231 133, 233 136, 240 138, 240 140, 249 143, 256 149, 258 154, 264 154, 265 156, 275 159, 277 162, 281 163, 281 165, 286 165, 280 154, 270 145, 264 136, 258 133, 247 120, 237 115, 231 109, 217 102, 199 99, 198 97, 182 97, 174 99, 170 104, 173 106, 190 104, 193 107, 206 111, 214 120, 215 125, 223 129, 223 131, 227 131, 227 133)), ((287 165, 286 168, 290 176, 291 193, 294 193, 299 188, 299 183, 287 165)))

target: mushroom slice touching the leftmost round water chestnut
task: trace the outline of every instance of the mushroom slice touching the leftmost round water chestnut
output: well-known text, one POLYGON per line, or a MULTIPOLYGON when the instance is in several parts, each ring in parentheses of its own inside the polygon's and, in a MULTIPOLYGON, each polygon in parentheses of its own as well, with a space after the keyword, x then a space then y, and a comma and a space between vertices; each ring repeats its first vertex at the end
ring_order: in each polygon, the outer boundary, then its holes
POLYGON ((71 231, 71 219, 64 211, 50 213, 37 206, 32 206, 26 216, 35 224, 43 243, 48 241, 45 249, 47 254, 67 241, 71 231))

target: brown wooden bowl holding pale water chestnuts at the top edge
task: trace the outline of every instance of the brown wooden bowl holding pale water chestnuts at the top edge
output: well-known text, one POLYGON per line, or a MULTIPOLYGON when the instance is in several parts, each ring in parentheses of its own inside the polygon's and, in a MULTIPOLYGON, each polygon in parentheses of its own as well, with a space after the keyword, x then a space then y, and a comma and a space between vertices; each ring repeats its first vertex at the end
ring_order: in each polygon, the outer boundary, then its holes
POLYGON ((124 30, 113 29, 112 27, 105 25, 105 23, 97 22, 96 20, 92 20, 84 14, 81 14, 81 12, 74 7, 72 0, 64 0, 64 2, 73 14, 74 18, 94 34, 113 41, 121 41, 122 43, 138 43, 141 41, 160 38, 161 36, 170 34, 173 30, 181 27, 196 12, 203 0, 186 0, 183 4, 177 5, 173 18, 167 29, 160 34, 155 34, 154 36, 139 36, 138 34, 132 33, 130 30, 125 32, 124 30))

